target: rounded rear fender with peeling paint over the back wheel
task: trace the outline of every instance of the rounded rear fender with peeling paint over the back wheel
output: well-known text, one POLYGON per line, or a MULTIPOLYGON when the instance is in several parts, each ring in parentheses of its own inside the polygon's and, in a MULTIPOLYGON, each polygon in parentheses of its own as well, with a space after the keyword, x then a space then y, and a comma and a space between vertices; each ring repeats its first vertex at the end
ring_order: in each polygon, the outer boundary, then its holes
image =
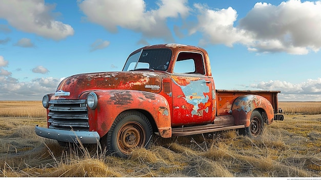
POLYGON ((232 116, 234 117, 235 125, 249 127, 251 114, 255 109, 263 110, 267 115, 267 124, 272 123, 274 111, 268 99, 259 95, 243 95, 237 97, 232 105, 232 116))

